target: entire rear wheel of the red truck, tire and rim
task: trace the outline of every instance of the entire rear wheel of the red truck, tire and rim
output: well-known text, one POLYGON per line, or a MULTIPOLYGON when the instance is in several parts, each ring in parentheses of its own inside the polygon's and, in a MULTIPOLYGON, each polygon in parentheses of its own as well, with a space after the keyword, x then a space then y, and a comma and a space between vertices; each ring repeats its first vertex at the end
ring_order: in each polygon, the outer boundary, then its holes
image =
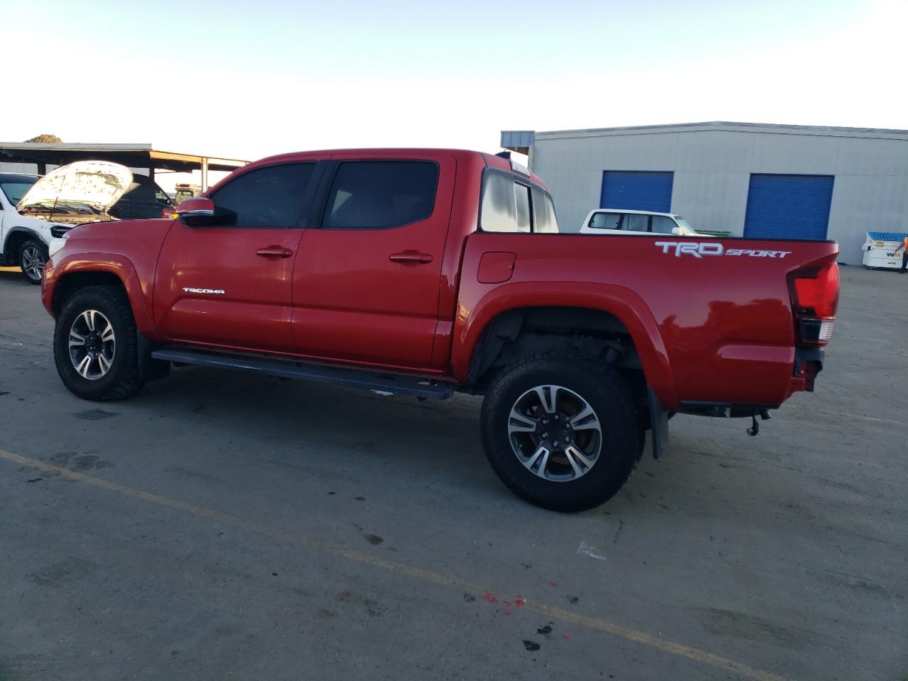
POLYGON ((573 351, 503 371, 482 405, 483 445, 498 478, 552 510, 586 510, 613 497, 637 465, 640 437, 620 374, 573 351))

